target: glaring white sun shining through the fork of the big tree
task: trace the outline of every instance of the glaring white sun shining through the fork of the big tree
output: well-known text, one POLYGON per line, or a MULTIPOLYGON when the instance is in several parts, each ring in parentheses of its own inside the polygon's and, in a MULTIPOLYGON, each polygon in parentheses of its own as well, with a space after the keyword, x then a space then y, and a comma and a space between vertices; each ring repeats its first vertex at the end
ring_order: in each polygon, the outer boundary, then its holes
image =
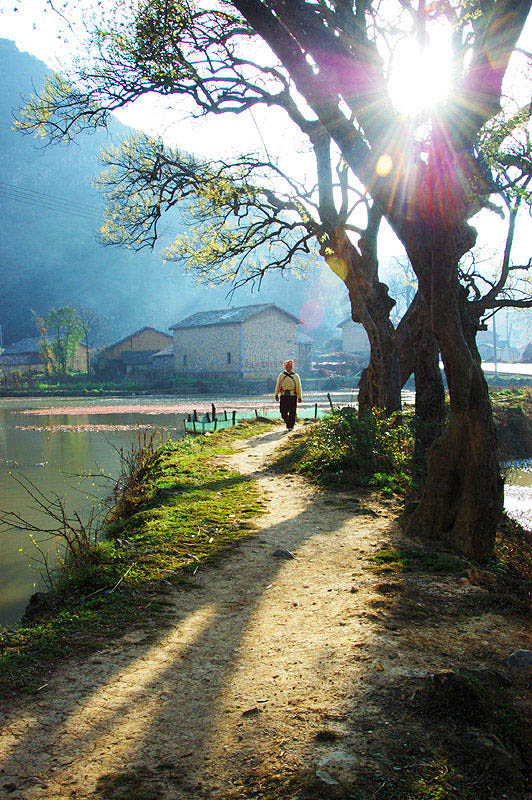
POLYGON ((447 38, 434 36, 426 47, 401 42, 393 55, 390 97, 397 111, 415 117, 443 102, 449 93, 451 56, 447 38))

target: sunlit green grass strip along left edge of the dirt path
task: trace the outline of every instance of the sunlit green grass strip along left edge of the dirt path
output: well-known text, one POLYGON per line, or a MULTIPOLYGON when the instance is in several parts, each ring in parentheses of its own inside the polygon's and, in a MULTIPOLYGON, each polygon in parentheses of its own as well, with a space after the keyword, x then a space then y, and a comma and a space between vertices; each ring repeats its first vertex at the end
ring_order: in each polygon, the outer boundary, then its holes
POLYGON ((60 571, 54 592, 37 595, 21 627, 0 631, 0 688, 36 690, 58 659, 94 650, 145 614, 164 616, 167 591, 249 535, 260 498, 219 459, 230 441, 269 427, 244 423, 215 438, 125 451, 126 459, 138 453, 134 469, 125 464, 88 560, 60 571))

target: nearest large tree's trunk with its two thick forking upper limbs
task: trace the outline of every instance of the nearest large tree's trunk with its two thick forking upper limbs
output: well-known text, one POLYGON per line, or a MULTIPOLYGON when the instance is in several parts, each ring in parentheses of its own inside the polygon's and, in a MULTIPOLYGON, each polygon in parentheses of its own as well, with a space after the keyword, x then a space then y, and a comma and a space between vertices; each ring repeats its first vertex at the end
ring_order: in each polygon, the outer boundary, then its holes
MULTIPOLYGON (((425 493, 411 529, 468 555, 490 555, 502 509, 502 481, 487 386, 478 352, 468 346, 462 325, 458 262, 474 244, 474 237, 467 235, 467 220, 482 205, 482 195, 491 191, 479 180, 473 155, 477 134, 500 110, 502 81, 531 2, 481 4, 483 13, 475 15, 473 23, 471 59, 465 59, 463 72, 458 65, 446 115, 435 114, 426 152, 417 129, 409 132, 393 113, 382 63, 364 22, 355 20, 348 44, 336 35, 351 27, 343 11, 335 28, 334 17, 340 12, 331 12, 330 24, 310 3, 233 0, 233 5, 288 69, 347 164, 386 214, 433 313, 450 419, 432 446, 425 493), (309 64, 309 53, 316 70, 309 64), (338 96, 351 110, 356 127, 338 96), (391 156, 393 164, 386 175, 376 168, 382 155, 391 156)), ((360 4, 362 20, 366 6, 360 4)))

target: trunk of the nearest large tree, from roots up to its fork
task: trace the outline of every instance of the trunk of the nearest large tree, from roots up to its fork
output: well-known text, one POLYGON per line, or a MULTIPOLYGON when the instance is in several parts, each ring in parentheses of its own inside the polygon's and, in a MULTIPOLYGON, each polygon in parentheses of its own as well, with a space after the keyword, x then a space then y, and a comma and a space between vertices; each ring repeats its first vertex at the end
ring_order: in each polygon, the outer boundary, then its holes
POLYGON ((449 389, 447 427, 428 457, 423 495, 408 529, 464 555, 493 555, 503 508, 497 434, 474 331, 459 282, 459 261, 476 240, 467 220, 474 199, 471 157, 434 123, 423 181, 399 222, 418 278, 449 389))

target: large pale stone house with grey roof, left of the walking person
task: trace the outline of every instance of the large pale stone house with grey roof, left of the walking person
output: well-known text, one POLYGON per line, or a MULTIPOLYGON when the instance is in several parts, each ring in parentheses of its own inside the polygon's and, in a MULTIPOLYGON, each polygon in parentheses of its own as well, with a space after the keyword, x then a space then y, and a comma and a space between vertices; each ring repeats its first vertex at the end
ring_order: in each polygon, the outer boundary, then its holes
POLYGON ((200 311, 175 325, 178 374, 276 378, 282 362, 297 362, 297 317, 273 303, 200 311))

